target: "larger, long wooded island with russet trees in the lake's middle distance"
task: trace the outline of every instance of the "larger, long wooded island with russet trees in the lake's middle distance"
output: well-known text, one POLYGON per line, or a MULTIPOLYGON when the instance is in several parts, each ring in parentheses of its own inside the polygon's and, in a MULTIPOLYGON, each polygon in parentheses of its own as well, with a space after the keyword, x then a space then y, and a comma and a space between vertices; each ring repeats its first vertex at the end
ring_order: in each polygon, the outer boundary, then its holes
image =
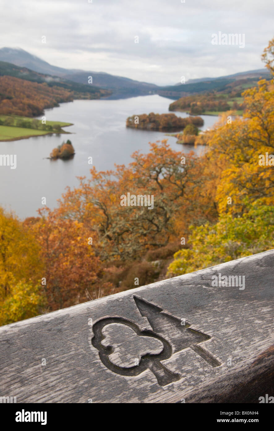
POLYGON ((126 127, 142 130, 170 131, 183 130, 187 125, 203 126, 201 117, 177 117, 175 114, 141 114, 126 119, 126 127))

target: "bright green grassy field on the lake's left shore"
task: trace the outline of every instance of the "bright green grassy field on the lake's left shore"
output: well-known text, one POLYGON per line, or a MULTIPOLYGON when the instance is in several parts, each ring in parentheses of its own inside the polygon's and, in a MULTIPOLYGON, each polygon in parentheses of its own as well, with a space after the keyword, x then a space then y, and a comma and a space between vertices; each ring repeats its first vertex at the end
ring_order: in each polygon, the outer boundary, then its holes
MULTIPOLYGON (((67 131, 62 130, 62 127, 72 125, 72 123, 66 123, 62 121, 47 121, 46 125, 52 126, 52 128, 54 128, 55 126, 60 126, 60 130, 58 131, 57 130, 49 131, 49 130, 42 129, 42 123, 41 125, 39 125, 39 128, 37 128, 37 125, 34 128, 15 126, 18 120, 28 121, 33 123, 35 119, 32 119, 32 118, 20 117, 20 116, 7 116, 7 115, 0 114, 0 120, 2 120, 2 122, 4 122, 6 119, 12 120, 14 125, 0 125, 0 141, 17 141, 18 139, 26 139, 32 136, 41 136, 41 135, 52 134, 52 133, 69 133, 67 131)), ((36 123, 37 123, 37 120, 36 120, 36 123)))

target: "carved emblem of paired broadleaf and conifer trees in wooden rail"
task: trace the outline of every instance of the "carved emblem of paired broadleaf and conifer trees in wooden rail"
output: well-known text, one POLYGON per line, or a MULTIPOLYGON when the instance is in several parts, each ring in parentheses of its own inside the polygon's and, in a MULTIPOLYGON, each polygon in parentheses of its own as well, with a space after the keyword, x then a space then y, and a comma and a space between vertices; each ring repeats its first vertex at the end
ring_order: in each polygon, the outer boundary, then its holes
POLYGON ((149 329, 141 331, 135 323, 121 317, 105 318, 96 322, 92 327, 94 334, 92 345, 99 350, 99 357, 108 369, 127 376, 136 376, 146 369, 150 369, 157 378, 158 384, 165 386, 179 380, 182 376, 170 371, 161 361, 169 359, 173 353, 187 347, 198 353, 213 367, 221 365, 209 352, 198 346, 203 341, 209 340, 209 335, 190 328, 188 322, 181 325, 180 319, 164 313, 163 309, 142 298, 133 296, 133 299, 141 315, 148 319, 153 331, 149 329), (125 325, 127 329, 118 331, 120 325, 125 325), (122 337, 121 340, 118 338, 119 333, 122 337), (154 349, 146 347, 145 350, 142 350, 140 347, 142 351, 140 350, 135 365, 130 362, 130 355, 126 355, 126 361, 122 362, 121 351, 127 349, 127 347, 123 347, 123 343, 127 342, 127 338, 123 337, 123 334, 143 337, 146 342, 149 341, 148 337, 152 337, 153 340, 148 344, 154 345, 154 349))

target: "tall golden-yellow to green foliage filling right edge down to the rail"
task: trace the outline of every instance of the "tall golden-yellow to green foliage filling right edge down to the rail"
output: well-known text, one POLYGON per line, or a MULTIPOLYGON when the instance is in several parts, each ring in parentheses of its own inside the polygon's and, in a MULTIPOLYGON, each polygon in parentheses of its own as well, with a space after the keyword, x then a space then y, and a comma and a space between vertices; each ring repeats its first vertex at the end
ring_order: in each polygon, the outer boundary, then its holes
MULTIPOLYGON (((272 40, 263 54, 272 72, 273 46, 272 40)), ((273 247, 274 85, 260 80, 243 97, 244 119, 231 121, 228 112, 207 133, 210 149, 203 157, 214 170, 219 221, 191 227, 189 248, 175 253, 169 276, 273 247)))

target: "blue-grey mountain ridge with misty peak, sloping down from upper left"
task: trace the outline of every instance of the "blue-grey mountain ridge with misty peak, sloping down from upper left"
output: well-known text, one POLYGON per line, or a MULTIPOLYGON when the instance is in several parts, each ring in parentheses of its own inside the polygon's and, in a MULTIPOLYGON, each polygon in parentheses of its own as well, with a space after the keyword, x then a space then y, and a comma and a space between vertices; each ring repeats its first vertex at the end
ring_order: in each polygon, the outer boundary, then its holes
POLYGON ((155 84, 134 81, 133 79, 110 75, 104 72, 64 69, 52 66, 48 62, 22 49, 1 48, 0 60, 31 69, 38 73, 65 78, 78 84, 88 84, 88 77, 92 76, 92 87, 112 90, 116 96, 117 94, 125 95, 128 93, 132 95, 149 94, 151 91, 156 91, 159 88, 155 84))

